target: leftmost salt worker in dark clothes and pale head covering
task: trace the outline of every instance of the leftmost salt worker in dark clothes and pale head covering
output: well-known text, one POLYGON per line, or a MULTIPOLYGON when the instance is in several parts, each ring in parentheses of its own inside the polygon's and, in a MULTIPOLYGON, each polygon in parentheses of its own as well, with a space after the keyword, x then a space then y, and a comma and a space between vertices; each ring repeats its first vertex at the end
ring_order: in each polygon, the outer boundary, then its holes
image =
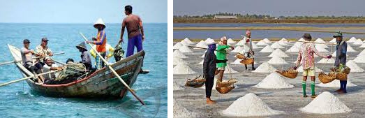
POLYGON ((207 98, 207 104, 216 103, 216 101, 212 101, 210 99, 211 89, 214 84, 214 73, 216 72, 216 54, 214 51, 216 50, 216 43, 211 41, 207 43, 208 50, 205 52, 204 62, 203 62, 203 74, 205 79, 205 95, 207 98))

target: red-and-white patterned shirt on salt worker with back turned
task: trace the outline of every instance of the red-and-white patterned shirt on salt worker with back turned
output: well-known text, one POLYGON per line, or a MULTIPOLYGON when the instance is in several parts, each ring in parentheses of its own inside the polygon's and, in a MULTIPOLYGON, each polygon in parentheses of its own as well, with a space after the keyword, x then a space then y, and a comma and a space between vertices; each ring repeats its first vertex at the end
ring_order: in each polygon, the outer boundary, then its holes
POLYGON ((320 54, 317 49, 315 49, 313 43, 304 43, 301 45, 299 50, 297 64, 299 66, 300 62, 303 65, 303 69, 308 69, 314 67, 314 54, 317 54, 320 57, 327 58, 326 55, 320 54))

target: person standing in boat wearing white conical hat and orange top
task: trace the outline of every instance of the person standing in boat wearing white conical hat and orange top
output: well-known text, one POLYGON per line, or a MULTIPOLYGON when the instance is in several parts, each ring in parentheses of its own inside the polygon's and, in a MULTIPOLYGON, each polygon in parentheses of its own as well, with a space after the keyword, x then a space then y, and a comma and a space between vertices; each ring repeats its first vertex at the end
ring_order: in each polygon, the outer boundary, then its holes
MULTIPOLYGON (((106 55, 106 44, 107 44, 107 36, 105 34, 105 23, 101 18, 99 18, 95 24, 94 27, 98 29, 98 35, 96 36, 96 41, 93 39, 93 41, 87 41, 87 43, 93 43, 96 45, 96 51, 100 53, 100 55, 105 58, 106 55)), ((96 69, 103 68, 105 66, 103 60, 100 59, 100 57, 96 57, 96 69)))

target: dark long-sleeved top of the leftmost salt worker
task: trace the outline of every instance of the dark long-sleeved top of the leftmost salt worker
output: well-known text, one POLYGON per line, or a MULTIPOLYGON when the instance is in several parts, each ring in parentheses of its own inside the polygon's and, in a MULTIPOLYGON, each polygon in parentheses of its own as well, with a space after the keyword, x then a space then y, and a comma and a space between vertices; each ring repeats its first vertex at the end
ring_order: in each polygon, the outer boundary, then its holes
POLYGON ((204 78, 214 78, 215 72, 216 72, 216 54, 214 54, 214 51, 207 50, 207 52, 205 52, 203 61, 204 78))

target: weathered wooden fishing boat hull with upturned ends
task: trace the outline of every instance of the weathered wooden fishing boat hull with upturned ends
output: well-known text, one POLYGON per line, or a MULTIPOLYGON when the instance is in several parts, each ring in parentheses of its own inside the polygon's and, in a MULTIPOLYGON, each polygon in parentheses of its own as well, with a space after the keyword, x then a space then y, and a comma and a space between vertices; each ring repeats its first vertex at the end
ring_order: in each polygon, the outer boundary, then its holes
MULTIPOLYGON (((20 49, 13 45, 8 45, 8 48, 20 73, 24 77, 33 76, 20 61, 22 60, 20 49)), ((129 87, 133 87, 137 76, 140 74, 144 54, 144 51, 137 52, 111 65, 129 87)), ((124 84, 106 67, 87 75, 85 78, 66 84, 39 84, 32 79, 26 81, 33 91, 52 97, 123 98, 128 91, 124 84)))

